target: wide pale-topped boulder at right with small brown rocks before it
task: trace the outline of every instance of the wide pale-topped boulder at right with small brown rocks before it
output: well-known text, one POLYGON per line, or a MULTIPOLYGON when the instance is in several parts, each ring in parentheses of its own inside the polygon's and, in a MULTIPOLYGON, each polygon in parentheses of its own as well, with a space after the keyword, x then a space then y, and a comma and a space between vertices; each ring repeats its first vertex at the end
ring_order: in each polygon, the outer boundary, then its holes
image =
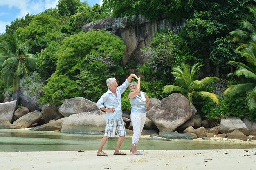
POLYGON ((243 123, 241 119, 238 119, 234 116, 225 117, 220 119, 220 132, 227 134, 230 128, 239 130, 246 136, 249 135, 249 129, 243 123))

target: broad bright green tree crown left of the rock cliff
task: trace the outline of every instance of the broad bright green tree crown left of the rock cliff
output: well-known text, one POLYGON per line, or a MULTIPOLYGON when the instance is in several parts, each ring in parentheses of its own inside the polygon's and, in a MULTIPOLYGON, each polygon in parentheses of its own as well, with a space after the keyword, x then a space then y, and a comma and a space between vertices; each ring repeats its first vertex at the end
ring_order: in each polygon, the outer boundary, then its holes
MULTIPOLYGON (((116 64, 124 57, 124 41, 104 30, 90 30, 71 35, 58 52, 56 73, 73 77, 95 57, 110 57, 116 64)), ((104 60, 104 59, 103 59, 104 60)))

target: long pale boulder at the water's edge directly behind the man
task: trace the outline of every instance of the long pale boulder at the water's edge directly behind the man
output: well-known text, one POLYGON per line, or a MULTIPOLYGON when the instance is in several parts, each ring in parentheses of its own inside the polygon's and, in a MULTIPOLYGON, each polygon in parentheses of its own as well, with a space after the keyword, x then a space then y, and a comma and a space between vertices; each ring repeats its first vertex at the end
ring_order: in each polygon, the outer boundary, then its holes
POLYGON ((65 117, 61 132, 102 135, 105 124, 106 114, 103 111, 83 112, 65 117))

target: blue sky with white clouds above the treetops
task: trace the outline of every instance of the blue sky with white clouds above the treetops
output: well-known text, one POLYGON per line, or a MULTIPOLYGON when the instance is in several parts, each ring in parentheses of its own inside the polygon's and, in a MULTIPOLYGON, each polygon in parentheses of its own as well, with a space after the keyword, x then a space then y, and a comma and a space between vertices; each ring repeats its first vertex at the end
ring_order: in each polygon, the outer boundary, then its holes
MULTIPOLYGON (((35 15, 48 8, 55 8, 59 0, 0 0, 0 34, 5 32, 5 26, 16 18, 25 17, 27 13, 35 15)), ((87 1, 92 6, 95 3, 102 4, 103 0, 87 1)))

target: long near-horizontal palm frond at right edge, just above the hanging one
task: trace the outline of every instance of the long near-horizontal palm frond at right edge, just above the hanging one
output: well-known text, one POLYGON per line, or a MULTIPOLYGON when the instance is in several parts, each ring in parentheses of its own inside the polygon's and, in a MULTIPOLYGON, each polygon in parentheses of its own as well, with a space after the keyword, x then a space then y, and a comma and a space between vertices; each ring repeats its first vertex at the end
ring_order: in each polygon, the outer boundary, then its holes
POLYGON ((224 95, 234 96, 242 92, 251 91, 256 86, 255 83, 244 83, 229 86, 224 92, 224 95))

